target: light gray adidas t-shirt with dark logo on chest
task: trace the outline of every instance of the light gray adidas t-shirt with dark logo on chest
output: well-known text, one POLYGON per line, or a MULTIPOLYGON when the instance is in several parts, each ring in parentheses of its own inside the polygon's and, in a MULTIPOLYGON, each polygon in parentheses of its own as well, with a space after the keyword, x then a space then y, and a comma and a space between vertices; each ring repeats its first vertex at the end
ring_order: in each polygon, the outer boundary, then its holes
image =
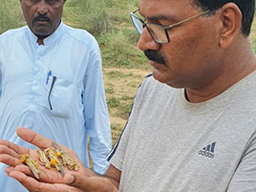
POLYGON ((108 159, 121 192, 256 191, 256 73, 202 103, 145 78, 108 159))

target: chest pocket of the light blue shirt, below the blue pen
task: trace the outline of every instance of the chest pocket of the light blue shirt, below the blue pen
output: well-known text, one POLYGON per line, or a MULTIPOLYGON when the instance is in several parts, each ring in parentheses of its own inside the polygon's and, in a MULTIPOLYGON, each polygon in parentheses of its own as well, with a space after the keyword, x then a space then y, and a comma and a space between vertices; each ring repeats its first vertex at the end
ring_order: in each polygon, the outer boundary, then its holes
POLYGON ((43 107, 49 116, 70 118, 75 85, 72 80, 50 76, 44 89, 43 107))

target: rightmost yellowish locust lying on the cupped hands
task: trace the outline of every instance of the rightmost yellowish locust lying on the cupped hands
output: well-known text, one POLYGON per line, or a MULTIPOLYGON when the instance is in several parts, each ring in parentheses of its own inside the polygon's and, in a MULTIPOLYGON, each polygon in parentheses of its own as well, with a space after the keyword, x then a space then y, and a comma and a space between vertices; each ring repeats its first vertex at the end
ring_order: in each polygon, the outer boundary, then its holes
POLYGON ((62 160, 62 164, 66 167, 68 167, 68 169, 70 170, 75 170, 77 171, 79 169, 79 166, 77 165, 77 163, 75 162, 75 160, 73 160, 69 154, 64 151, 56 142, 52 142, 53 147, 55 148, 55 152, 57 157, 60 157, 62 160))

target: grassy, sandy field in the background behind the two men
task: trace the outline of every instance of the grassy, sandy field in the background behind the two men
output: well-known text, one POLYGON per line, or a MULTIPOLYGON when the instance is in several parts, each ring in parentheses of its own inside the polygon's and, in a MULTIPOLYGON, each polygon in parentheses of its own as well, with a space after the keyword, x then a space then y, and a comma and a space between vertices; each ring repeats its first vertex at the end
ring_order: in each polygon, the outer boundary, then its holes
MULTIPOLYGON (((26 24, 17 0, 0 0, 0 5, 0 33, 26 24)), ((137 48, 139 34, 129 17, 138 6, 139 0, 67 0, 63 13, 64 23, 91 32, 99 43, 113 144, 125 125, 139 84, 151 73, 146 57, 137 48)), ((251 39, 255 47, 255 22, 251 39)))

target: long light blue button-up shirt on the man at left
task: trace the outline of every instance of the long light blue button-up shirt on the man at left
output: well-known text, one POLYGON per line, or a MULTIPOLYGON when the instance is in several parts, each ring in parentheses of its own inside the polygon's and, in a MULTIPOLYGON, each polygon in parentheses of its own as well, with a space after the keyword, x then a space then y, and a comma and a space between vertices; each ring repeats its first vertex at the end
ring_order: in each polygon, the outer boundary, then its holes
MULTIPOLYGON (((0 139, 32 147, 15 134, 24 126, 70 147, 89 166, 89 135, 94 170, 105 173, 111 130, 96 39, 61 23, 44 45, 36 41, 27 26, 0 36, 0 139)), ((0 163, 0 191, 21 191, 5 167, 0 163)))

